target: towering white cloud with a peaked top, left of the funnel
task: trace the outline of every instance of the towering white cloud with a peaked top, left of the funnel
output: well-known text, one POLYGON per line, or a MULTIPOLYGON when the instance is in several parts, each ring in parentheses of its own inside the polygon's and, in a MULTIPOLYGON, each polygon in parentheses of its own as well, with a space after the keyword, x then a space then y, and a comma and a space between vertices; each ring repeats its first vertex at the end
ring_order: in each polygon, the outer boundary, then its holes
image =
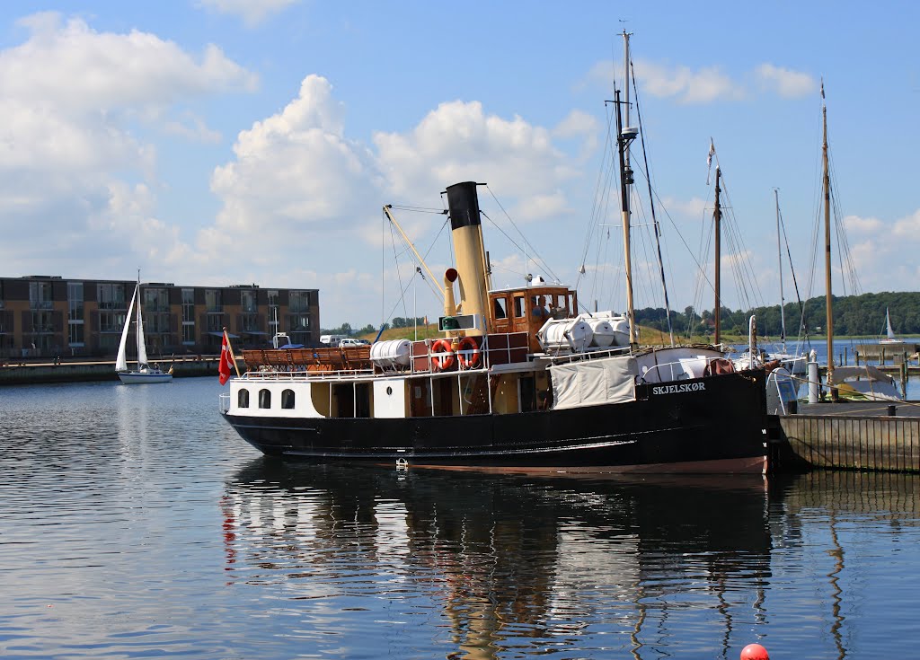
POLYGON ((280 113, 241 131, 236 159, 213 172, 211 189, 224 207, 201 233, 201 250, 271 259, 292 247, 279 245, 285 233, 299 241, 308 231, 328 237, 360 226, 383 195, 370 154, 344 138, 343 120, 332 85, 309 75, 280 113))

